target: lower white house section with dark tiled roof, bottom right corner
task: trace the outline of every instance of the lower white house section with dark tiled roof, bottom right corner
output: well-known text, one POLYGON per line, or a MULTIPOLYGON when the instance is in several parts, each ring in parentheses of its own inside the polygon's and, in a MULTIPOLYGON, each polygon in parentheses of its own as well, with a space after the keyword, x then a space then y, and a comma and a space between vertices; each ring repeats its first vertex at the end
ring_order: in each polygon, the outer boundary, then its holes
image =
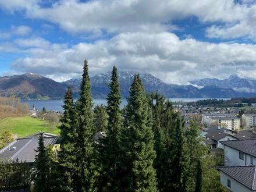
POLYGON ((256 191, 256 169, 252 166, 227 166, 218 168, 221 184, 233 192, 256 191))

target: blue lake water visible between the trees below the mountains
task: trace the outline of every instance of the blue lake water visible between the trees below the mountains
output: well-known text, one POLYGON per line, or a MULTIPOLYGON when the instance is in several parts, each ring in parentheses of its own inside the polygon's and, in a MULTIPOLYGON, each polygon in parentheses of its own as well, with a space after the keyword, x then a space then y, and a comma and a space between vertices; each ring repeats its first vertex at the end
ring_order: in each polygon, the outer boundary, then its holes
MULTIPOLYGON (((193 102, 198 101, 202 99, 208 99, 208 98, 170 98, 171 101, 177 102, 177 101, 183 101, 183 102, 193 102)), ((230 98, 217 98, 217 99, 230 99, 230 98)), ((43 107, 47 109, 47 111, 62 111, 62 100, 23 100, 22 102, 29 104, 29 107, 32 108, 33 105, 41 111, 43 107)), ((93 99, 94 105, 106 105, 106 99, 93 99)), ((121 108, 123 108, 125 105, 127 105, 127 100, 122 99, 121 108)))

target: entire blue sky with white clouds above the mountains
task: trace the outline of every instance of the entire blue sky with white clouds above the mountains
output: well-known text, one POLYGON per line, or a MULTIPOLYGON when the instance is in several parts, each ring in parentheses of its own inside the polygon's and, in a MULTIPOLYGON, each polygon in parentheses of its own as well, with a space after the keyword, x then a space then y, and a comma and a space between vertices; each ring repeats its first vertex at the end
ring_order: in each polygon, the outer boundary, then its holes
POLYGON ((255 24, 251 0, 0 0, 0 76, 256 78, 255 24))

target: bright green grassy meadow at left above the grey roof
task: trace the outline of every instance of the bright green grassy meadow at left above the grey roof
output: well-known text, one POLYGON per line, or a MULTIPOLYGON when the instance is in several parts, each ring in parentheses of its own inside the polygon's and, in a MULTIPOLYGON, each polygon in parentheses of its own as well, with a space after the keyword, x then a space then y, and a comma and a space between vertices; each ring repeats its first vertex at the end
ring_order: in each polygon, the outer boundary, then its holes
POLYGON ((31 118, 30 116, 0 120, 0 134, 4 130, 9 130, 19 138, 29 136, 38 131, 59 134, 59 129, 57 127, 50 128, 47 120, 31 118))

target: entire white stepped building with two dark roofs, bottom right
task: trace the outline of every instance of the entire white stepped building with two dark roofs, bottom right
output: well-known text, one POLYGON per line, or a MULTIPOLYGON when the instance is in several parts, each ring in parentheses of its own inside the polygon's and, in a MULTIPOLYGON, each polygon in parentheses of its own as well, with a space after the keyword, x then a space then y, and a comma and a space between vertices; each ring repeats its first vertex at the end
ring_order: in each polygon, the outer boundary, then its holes
POLYGON ((229 191, 256 191, 256 140, 221 141, 224 167, 219 167, 221 184, 229 191))

